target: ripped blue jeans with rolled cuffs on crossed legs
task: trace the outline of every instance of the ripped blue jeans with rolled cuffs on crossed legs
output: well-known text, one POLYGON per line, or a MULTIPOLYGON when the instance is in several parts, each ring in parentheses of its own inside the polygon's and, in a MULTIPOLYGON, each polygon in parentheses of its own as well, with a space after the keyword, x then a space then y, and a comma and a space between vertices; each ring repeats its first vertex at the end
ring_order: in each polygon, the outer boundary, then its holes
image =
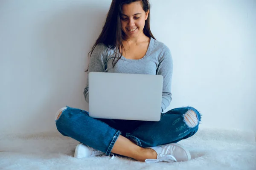
POLYGON ((201 114, 192 107, 163 113, 159 122, 95 119, 87 111, 65 108, 56 122, 58 131, 96 150, 110 155, 119 135, 134 140, 140 147, 176 143, 198 131, 201 114))

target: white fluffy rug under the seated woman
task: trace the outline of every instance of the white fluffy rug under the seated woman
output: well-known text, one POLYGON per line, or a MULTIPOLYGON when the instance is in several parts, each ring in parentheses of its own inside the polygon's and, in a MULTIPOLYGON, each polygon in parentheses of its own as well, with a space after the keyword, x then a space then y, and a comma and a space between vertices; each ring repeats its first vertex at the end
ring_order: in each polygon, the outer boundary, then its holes
POLYGON ((73 158, 77 141, 59 133, 0 135, 0 170, 256 170, 256 141, 252 132, 199 130, 179 142, 192 159, 151 163, 108 156, 73 158))

